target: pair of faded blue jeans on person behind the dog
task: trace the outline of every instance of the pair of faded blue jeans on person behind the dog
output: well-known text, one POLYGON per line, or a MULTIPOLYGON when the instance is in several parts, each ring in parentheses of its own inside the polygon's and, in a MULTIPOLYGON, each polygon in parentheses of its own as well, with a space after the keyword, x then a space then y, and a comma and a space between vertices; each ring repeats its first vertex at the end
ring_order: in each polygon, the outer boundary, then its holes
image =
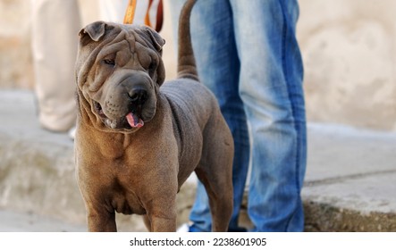
MULTIPOLYGON (((170 1, 174 27, 183 2, 170 1)), ((304 229, 307 136, 298 16, 294 0, 198 0, 191 14, 199 78, 215 93, 235 142, 231 231, 240 230, 249 164, 251 230, 304 229)), ((210 231, 200 183, 197 192, 190 231, 210 231)))

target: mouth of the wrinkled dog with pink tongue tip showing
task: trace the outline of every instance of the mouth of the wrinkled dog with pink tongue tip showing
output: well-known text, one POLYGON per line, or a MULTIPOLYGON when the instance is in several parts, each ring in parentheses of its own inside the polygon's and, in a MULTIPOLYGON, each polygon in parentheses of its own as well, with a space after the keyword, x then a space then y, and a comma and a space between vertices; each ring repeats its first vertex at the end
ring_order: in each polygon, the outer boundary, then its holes
POLYGON ((128 112, 120 119, 110 119, 105 115, 101 104, 94 101, 95 111, 105 125, 111 129, 133 129, 141 128, 144 126, 144 121, 141 118, 141 107, 132 108, 131 112, 128 112))

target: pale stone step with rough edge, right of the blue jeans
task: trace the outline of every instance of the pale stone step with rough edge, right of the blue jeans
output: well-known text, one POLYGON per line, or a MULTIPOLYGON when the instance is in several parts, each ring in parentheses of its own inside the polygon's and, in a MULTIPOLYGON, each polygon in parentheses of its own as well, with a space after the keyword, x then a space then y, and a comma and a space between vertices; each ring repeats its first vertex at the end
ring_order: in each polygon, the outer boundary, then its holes
POLYGON ((308 143, 308 229, 396 231, 396 133, 310 124, 308 143))

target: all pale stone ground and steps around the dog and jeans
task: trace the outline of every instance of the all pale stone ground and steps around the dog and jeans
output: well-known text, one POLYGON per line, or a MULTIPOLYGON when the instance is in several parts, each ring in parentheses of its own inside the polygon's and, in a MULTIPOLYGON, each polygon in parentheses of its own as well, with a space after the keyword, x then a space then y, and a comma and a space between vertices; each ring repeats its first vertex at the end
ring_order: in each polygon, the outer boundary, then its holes
MULTIPOLYGON (((85 230, 72 140, 39 128, 31 92, 2 90, 0 100, 0 231, 85 230)), ((396 231, 395 153, 396 133, 309 123, 307 230, 396 231)), ((179 198, 182 218, 191 189, 179 198)))

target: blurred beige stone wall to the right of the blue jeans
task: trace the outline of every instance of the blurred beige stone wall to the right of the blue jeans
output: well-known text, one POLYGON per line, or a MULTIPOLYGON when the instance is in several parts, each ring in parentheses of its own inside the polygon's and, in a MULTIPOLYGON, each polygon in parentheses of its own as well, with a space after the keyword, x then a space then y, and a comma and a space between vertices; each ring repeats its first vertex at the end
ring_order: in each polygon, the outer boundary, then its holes
POLYGON ((396 131, 396 1, 299 4, 308 121, 396 131))

